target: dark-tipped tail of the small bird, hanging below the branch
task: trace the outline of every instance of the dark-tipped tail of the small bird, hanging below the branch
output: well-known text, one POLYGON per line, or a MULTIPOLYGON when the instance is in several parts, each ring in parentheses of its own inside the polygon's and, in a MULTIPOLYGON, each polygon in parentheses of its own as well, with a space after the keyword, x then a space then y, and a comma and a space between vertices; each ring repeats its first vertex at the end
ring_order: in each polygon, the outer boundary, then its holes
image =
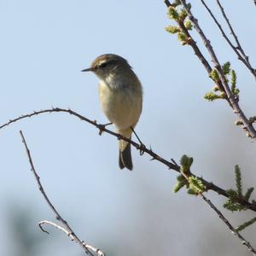
MULTIPOLYGON (((131 128, 124 131, 119 131, 119 134, 124 137, 131 138, 131 128)), ((124 169, 125 167, 132 170, 132 160, 131 160, 131 144, 123 140, 119 141, 119 167, 124 169)))

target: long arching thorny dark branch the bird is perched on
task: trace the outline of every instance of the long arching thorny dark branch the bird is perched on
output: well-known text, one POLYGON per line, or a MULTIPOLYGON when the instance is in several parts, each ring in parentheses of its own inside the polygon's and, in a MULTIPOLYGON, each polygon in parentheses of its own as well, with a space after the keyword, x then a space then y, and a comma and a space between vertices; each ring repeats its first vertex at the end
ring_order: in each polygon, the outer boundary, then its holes
MULTIPOLYGON (((101 134, 102 131, 105 131, 108 134, 112 135, 113 137, 117 137, 118 140, 122 139, 125 142, 131 143, 131 145, 134 148, 137 148, 137 150, 139 150, 140 152, 149 154, 152 157, 152 160, 157 160, 160 163, 167 166, 168 169, 171 169, 175 172, 180 172, 180 166, 178 166, 177 163, 174 160, 168 161, 168 160, 162 158, 159 154, 154 153, 152 148, 147 148, 143 144, 138 144, 138 143, 132 141, 131 139, 128 139, 126 137, 121 136, 120 134, 118 134, 116 132, 110 131, 104 125, 97 124, 96 120, 93 121, 93 120, 87 119, 86 117, 82 116, 79 113, 76 113, 75 111, 73 111, 71 109, 49 108, 49 109, 44 109, 44 110, 40 110, 40 111, 34 111, 33 113, 27 113, 27 114, 21 115, 18 118, 10 119, 9 122, 7 122, 3 125, 0 125, 0 129, 3 129, 3 127, 6 127, 10 124, 15 123, 15 122, 19 121, 20 119, 31 118, 32 116, 36 116, 36 115, 41 114, 41 113, 69 113, 69 114, 71 114, 71 115, 73 115, 73 116, 75 116, 75 117, 77 117, 77 118, 79 118, 79 119, 81 119, 85 122, 90 123, 90 125, 96 126, 96 128, 99 129, 99 134, 101 134)), ((195 174, 193 174, 193 175, 195 177, 197 177, 195 174)), ((229 198, 229 195, 227 194, 225 189, 222 189, 222 188, 218 187, 217 185, 213 184, 212 182, 208 182, 207 180, 205 180, 202 177, 197 177, 197 178, 199 178, 201 180, 201 182, 206 186, 206 190, 215 191, 216 193, 218 193, 218 195, 224 195, 225 197, 229 198)), ((241 199, 241 198, 237 198, 236 201, 239 204, 241 204, 242 206, 247 207, 247 209, 250 209, 253 212, 256 212, 256 205, 254 205, 254 204, 252 204, 248 201, 245 201, 244 199, 241 199)))

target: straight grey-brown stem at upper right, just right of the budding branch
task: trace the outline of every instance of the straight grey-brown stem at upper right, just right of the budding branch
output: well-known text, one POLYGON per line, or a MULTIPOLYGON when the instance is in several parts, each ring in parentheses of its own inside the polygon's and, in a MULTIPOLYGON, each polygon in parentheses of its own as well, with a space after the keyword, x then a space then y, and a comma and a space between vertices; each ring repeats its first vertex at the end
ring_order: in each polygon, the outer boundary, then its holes
POLYGON ((207 38, 205 33, 202 31, 201 26, 199 26, 199 24, 198 24, 198 20, 195 19, 194 15, 192 15, 190 9, 188 8, 186 1, 180 0, 180 2, 182 3, 183 8, 186 10, 186 12, 189 16, 189 20, 192 21, 192 23, 195 27, 195 30, 199 33, 201 40, 205 44, 205 47, 207 48, 207 51, 212 58, 212 62, 218 72, 219 79, 224 88, 224 92, 227 96, 227 101, 230 103, 231 108, 233 108, 234 113, 236 113, 238 115, 239 119, 241 119, 241 121, 243 122, 244 129, 247 131, 248 136, 251 137, 255 141, 256 140, 256 131, 255 131, 253 125, 248 121, 246 115, 241 110, 239 103, 236 101, 232 91, 230 90, 230 86, 224 77, 224 73, 222 71, 221 65, 219 64, 218 58, 212 48, 212 44, 211 44, 210 40, 207 38))

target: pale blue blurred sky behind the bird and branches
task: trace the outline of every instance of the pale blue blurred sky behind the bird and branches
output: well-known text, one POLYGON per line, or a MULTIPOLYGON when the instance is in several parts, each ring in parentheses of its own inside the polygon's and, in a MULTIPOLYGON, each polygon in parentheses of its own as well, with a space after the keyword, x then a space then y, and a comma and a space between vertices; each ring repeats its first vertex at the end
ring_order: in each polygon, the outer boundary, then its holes
MULTIPOLYGON (((255 67, 253 1, 243 3, 242 9, 241 3, 231 9, 225 5, 255 67)), ((241 107, 247 115, 255 114, 253 76, 236 60, 199 1, 193 3, 192 11, 218 49, 219 60, 230 61, 236 69, 241 107)), ((143 83, 143 114, 137 125, 143 143, 166 159, 192 155, 195 172, 224 188, 233 184, 233 166, 239 164, 252 186, 254 143, 233 125, 236 117, 225 102, 203 99, 212 82, 192 49, 165 31, 170 24, 163 1, 1 0, 0 123, 52 106, 108 122, 99 106, 96 77, 80 70, 89 67, 97 55, 114 53, 130 62, 143 83)), ((196 41, 202 45, 200 38, 196 41)), ((199 199, 183 192, 173 195, 175 173, 149 161, 147 155, 140 157, 134 148, 134 172, 119 171, 116 139, 107 134, 99 137, 94 127, 61 113, 22 120, 1 131, 1 218, 8 219, 9 207, 27 206, 34 218, 29 224, 36 232, 37 221, 54 219, 29 172, 20 130, 49 197, 84 240, 106 253, 187 255, 193 247, 196 255, 204 255, 204 250, 221 239, 225 244, 219 254, 230 255, 234 247, 246 255, 199 199), (200 234, 206 234, 203 248, 198 246, 200 234), (188 248, 183 247, 184 241, 188 248)), ((224 201, 212 198, 219 205, 224 201)), ((226 214, 235 223, 242 221, 226 214)), ((15 248, 10 249, 12 234, 8 234, 0 230, 0 254, 15 255, 15 248)), ((255 236, 255 228, 246 234, 255 236)), ((54 236, 60 235, 55 230, 50 237, 42 235, 49 243, 37 255, 79 254, 79 248, 66 237, 55 242, 54 236)))

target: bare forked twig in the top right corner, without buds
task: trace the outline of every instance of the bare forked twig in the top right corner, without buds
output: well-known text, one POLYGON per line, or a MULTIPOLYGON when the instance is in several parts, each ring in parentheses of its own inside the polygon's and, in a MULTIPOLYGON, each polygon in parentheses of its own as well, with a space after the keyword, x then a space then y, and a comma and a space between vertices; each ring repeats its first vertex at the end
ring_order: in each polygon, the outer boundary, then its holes
POLYGON ((245 54, 244 50, 241 48, 241 44, 240 44, 240 42, 239 42, 239 40, 238 40, 238 38, 236 36, 235 31, 233 30, 233 27, 230 24, 230 20, 228 19, 227 15, 224 12, 223 6, 221 5, 221 3, 218 0, 216 0, 216 1, 218 3, 218 7, 221 10, 222 15, 224 16, 224 20, 227 22, 228 26, 230 27, 231 35, 235 38, 236 46, 231 43, 230 38, 228 38, 228 36, 224 32, 222 26, 220 25, 220 23, 218 22, 216 17, 212 14, 212 11, 207 6, 207 3, 205 3, 204 0, 201 0, 201 3, 207 9, 208 13, 212 16, 212 19, 214 20, 214 22, 218 26, 218 29, 222 33, 224 39, 227 41, 228 44, 230 44, 230 47, 235 51, 235 53, 236 53, 236 55, 238 57, 238 60, 240 60, 240 61, 242 61, 244 63, 244 65, 250 70, 250 72, 253 73, 254 79, 256 79, 256 70, 251 66, 251 63, 249 62, 248 56, 245 54))

